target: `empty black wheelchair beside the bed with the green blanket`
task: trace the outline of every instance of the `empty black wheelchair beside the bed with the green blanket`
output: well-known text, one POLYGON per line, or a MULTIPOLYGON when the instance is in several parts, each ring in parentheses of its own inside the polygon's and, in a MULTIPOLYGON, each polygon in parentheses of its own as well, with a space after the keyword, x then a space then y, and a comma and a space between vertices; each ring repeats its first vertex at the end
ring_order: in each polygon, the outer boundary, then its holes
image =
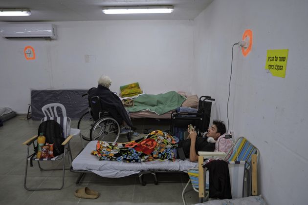
POLYGON ((189 124, 195 125, 198 137, 206 132, 211 118, 212 101, 215 101, 211 96, 201 96, 198 101, 197 112, 178 112, 173 111, 171 114, 171 134, 175 134, 176 128, 180 131, 187 130, 189 124))

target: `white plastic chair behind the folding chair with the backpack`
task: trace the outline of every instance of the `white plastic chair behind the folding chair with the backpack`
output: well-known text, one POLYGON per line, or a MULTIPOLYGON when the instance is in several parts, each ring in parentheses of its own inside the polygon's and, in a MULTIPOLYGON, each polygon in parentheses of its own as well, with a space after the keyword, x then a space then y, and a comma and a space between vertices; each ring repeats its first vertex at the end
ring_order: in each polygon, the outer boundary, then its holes
MULTIPOLYGON (((43 111, 45 117, 49 117, 49 118, 50 117, 67 117, 66 116, 66 109, 65 109, 64 105, 60 104, 60 103, 46 104, 42 107, 42 111, 43 111), (58 116, 58 111, 62 112, 62 116, 61 115, 58 116)), ((82 144, 83 148, 85 148, 84 142, 82 140, 82 136, 80 135, 80 129, 70 128, 70 132, 67 132, 67 133, 70 133, 73 136, 79 135, 81 144, 82 144)))

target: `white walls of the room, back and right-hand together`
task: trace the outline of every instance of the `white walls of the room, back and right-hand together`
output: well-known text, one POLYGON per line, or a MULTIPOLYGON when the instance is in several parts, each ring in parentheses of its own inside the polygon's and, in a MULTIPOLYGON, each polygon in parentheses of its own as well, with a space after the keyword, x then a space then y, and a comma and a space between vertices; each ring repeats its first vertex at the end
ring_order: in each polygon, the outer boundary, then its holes
POLYGON ((251 53, 234 49, 230 129, 260 149, 259 191, 270 205, 306 204, 307 8, 307 0, 215 0, 195 21, 55 22, 56 41, 0 38, 0 107, 26 112, 30 89, 88 89, 107 74, 114 91, 140 82, 148 93, 211 95, 214 118, 226 122, 231 47, 251 29, 251 53), (26 45, 35 61, 24 59, 26 45), (266 73, 268 49, 289 49, 286 78, 266 73))

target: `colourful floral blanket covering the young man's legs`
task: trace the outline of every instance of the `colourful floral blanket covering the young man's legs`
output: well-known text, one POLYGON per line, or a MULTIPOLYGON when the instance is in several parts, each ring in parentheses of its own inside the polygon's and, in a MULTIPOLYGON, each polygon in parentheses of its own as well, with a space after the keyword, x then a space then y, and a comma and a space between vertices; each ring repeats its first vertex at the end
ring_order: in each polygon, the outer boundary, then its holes
POLYGON ((112 160, 118 162, 146 162, 146 161, 175 161, 174 148, 176 140, 166 132, 155 130, 135 141, 127 143, 109 143, 98 141, 96 150, 91 154, 98 160, 112 160))

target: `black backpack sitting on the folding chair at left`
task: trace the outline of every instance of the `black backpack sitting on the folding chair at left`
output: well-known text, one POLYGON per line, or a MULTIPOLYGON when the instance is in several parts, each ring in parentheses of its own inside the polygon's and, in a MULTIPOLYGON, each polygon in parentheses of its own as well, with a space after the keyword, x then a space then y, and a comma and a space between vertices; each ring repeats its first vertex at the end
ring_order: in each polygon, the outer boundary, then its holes
POLYGON ((46 120, 42 122, 39 126, 38 135, 43 132, 46 138, 45 143, 53 143, 53 154, 58 156, 64 153, 64 145, 62 143, 65 141, 64 132, 62 126, 54 120, 46 120))

